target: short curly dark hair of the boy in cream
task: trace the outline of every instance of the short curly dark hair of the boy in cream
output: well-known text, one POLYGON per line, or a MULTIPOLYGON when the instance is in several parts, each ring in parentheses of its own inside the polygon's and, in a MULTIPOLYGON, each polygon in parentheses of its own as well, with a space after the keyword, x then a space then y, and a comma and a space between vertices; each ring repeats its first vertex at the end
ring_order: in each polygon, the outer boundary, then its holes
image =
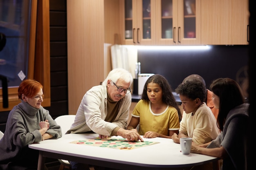
POLYGON ((175 89, 175 92, 192 100, 199 98, 201 102, 204 102, 207 96, 207 91, 205 89, 206 87, 202 82, 194 79, 179 84, 175 89))

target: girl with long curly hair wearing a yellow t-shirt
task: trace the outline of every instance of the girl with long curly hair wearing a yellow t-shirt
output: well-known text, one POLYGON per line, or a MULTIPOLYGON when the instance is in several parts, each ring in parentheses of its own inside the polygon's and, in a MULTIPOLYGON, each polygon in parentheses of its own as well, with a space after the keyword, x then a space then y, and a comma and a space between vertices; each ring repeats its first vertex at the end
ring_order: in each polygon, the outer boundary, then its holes
POLYGON ((147 79, 127 129, 137 131, 139 124, 138 132, 144 138, 171 138, 178 132, 181 118, 170 84, 165 77, 156 74, 147 79))

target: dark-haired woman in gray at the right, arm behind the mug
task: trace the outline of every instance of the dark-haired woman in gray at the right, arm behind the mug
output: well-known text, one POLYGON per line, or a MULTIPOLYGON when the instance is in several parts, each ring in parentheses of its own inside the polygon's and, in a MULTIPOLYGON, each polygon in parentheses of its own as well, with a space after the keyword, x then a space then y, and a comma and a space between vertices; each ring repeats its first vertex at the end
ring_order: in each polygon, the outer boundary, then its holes
POLYGON ((216 79, 210 89, 213 103, 219 108, 217 125, 221 132, 207 144, 193 143, 191 152, 222 159, 222 170, 246 170, 249 104, 245 104, 241 88, 233 79, 216 79))

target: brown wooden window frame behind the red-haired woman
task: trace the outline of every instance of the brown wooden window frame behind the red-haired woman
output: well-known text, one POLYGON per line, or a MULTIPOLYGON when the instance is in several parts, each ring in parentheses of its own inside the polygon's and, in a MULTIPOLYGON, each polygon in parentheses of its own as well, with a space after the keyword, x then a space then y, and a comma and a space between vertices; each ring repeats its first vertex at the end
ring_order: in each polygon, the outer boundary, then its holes
MULTIPOLYGON (((43 107, 51 106, 49 0, 31 0, 29 61, 27 78, 43 85, 43 107)), ((18 87, 8 87, 8 108, 3 108, 0 89, 0 111, 9 111, 20 103, 18 87)))

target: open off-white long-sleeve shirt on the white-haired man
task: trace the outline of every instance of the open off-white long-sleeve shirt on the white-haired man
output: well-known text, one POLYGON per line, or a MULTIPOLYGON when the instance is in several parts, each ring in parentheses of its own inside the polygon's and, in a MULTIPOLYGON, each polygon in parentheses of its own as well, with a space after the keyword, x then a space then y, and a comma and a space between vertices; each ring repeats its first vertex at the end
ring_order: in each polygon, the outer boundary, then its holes
POLYGON ((132 95, 128 93, 120 100, 120 108, 113 122, 105 121, 108 113, 107 96, 106 86, 94 86, 87 91, 76 112, 74 123, 66 133, 93 131, 100 135, 110 136, 117 127, 126 129, 132 95))

